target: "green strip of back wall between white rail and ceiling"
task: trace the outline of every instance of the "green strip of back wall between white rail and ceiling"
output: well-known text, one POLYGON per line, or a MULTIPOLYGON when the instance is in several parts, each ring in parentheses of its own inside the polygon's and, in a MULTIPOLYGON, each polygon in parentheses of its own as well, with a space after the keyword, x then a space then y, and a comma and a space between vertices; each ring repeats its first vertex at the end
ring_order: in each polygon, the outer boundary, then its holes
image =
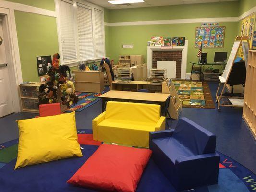
POLYGON ((183 4, 163 7, 109 10, 106 22, 152 21, 168 19, 236 17, 239 14, 239 1, 183 4))

